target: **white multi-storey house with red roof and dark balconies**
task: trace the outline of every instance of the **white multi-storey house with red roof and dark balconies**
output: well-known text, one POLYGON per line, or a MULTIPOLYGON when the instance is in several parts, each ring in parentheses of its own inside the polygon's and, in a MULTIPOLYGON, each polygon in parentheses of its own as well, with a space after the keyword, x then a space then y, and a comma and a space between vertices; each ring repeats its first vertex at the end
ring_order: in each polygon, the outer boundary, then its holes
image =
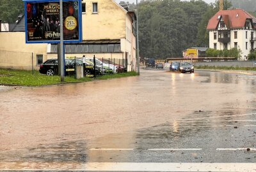
POLYGON ((241 10, 221 10, 209 20, 209 48, 217 50, 238 48, 246 60, 255 47, 256 18, 241 10))

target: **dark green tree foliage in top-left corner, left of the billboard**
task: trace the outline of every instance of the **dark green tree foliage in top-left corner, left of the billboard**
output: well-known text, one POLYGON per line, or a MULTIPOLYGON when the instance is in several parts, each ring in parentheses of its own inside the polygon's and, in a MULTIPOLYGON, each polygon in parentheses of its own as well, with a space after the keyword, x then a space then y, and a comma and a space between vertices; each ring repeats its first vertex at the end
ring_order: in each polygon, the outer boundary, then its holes
POLYGON ((3 22, 15 22, 20 14, 24 13, 22 0, 1 0, 0 19, 3 22))

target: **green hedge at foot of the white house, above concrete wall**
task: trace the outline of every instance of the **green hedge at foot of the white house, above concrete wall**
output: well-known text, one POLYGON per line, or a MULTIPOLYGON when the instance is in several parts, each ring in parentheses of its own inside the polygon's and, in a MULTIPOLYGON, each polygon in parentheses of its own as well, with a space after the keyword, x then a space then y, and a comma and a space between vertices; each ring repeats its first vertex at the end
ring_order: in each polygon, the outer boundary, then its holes
POLYGON ((236 57, 239 59, 241 57, 241 50, 237 48, 232 48, 231 50, 215 50, 209 48, 206 50, 206 57, 236 57))

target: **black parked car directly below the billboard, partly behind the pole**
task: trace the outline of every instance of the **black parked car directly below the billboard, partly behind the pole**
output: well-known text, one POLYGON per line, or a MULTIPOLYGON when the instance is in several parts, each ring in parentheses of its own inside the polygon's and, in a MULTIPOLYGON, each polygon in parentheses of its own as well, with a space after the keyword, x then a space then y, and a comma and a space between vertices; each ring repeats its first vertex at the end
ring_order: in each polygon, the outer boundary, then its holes
MULTIPOLYGON (((65 67, 68 68, 70 59, 65 59, 65 67)), ((58 74, 58 59, 49 59, 40 65, 39 72, 48 76, 58 74)))

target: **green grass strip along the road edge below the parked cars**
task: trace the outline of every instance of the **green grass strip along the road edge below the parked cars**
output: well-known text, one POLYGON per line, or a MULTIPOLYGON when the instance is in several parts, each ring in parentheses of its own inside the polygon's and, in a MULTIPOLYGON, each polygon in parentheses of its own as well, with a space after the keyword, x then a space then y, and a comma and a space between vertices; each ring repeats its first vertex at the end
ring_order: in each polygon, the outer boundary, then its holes
MULTIPOLYGON (((96 79, 106 80, 109 78, 121 78, 126 76, 136 76, 135 72, 120 73, 115 75, 99 76, 96 79)), ((60 82, 60 76, 47 76, 42 75, 38 71, 23 71, 12 69, 0 69, 0 84, 2 85, 23 85, 23 86, 42 86, 54 85, 60 83, 77 83, 77 82, 90 82, 93 78, 84 77, 76 80, 74 77, 65 77, 65 82, 60 82)))

